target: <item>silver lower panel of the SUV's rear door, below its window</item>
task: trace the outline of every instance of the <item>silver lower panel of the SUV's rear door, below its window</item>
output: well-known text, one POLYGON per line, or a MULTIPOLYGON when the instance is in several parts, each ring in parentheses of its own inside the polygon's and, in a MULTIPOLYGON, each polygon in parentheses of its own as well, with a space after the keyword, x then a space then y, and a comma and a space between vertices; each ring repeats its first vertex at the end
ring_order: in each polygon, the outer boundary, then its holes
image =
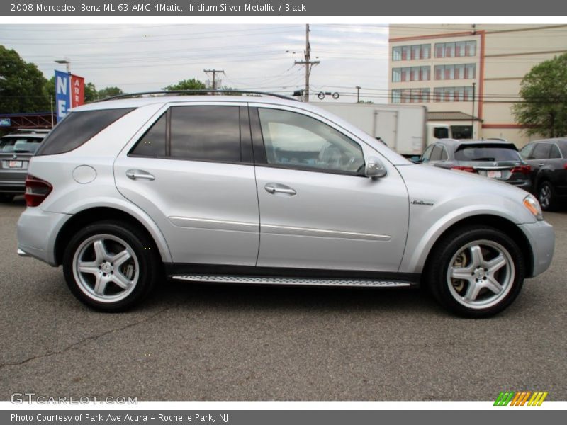
POLYGON ((147 212, 176 263, 254 266, 258 200, 251 165, 120 157, 118 191, 147 212), (155 180, 126 176, 147 171, 155 180))

